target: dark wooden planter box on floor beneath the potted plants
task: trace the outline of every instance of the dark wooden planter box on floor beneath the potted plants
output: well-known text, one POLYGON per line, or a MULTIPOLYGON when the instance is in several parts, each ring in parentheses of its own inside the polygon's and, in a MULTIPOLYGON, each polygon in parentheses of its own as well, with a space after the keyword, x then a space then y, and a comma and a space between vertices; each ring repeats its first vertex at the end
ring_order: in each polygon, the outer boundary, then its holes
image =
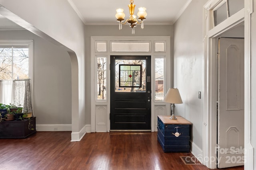
POLYGON ((30 118, 30 120, 3 121, 0 123, 0 139, 26 138, 33 133, 36 133, 36 117, 30 118))

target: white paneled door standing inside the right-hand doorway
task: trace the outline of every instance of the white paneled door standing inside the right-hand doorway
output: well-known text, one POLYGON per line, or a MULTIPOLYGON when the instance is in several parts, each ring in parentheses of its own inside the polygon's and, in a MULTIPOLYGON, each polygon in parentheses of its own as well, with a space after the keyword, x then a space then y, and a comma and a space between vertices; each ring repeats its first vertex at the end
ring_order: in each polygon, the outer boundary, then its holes
POLYGON ((218 168, 244 164, 244 39, 220 38, 218 168))

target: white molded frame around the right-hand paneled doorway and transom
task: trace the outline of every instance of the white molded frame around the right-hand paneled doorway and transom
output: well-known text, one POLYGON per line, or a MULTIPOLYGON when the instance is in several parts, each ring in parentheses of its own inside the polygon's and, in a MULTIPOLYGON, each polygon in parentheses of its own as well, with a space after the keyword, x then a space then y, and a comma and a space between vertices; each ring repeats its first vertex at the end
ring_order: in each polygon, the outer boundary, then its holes
POLYGON ((253 147, 250 143, 250 14, 253 0, 244 0, 244 9, 211 28, 211 10, 221 0, 209 0, 204 5, 204 122, 203 122, 203 164, 216 168, 216 37, 244 22, 244 149, 245 169, 253 169, 253 147), (215 158, 215 159, 214 159, 215 158))

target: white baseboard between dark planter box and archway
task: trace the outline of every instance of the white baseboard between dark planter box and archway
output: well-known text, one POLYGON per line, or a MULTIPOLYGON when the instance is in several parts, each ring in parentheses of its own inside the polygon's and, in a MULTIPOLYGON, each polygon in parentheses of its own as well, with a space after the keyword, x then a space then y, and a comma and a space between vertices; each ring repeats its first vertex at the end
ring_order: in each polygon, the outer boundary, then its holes
POLYGON ((72 131, 71 124, 37 124, 36 131, 72 131))

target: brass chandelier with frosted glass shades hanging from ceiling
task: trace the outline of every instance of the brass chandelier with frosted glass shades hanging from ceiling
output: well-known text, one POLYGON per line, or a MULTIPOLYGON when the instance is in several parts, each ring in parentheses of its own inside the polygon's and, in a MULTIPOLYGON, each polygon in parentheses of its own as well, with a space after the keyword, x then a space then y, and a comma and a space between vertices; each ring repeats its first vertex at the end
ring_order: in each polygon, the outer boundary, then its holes
POLYGON ((133 0, 130 0, 130 3, 128 5, 129 7, 129 11, 130 11, 130 18, 127 19, 124 23, 122 21, 124 21, 124 17, 125 17, 125 14, 124 14, 124 9, 122 8, 119 8, 116 10, 116 18, 119 22, 119 30, 122 29, 122 25, 125 25, 126 23, 129 24, 129 26, 132 28, 132 34, 134 34, 134 27, 136 27, 136 23, 140 24, 141 25, 141 29, 144 28, 144 20, 146 20, 146 16, 147 16, 147 13, 146 13, 146 8, 144 7, 140 7, 138 10, 138 20, 140 20, 140 22, 136 19, 136 15, 134 15, 134 8, 136 5, 133 4, 133 0))

